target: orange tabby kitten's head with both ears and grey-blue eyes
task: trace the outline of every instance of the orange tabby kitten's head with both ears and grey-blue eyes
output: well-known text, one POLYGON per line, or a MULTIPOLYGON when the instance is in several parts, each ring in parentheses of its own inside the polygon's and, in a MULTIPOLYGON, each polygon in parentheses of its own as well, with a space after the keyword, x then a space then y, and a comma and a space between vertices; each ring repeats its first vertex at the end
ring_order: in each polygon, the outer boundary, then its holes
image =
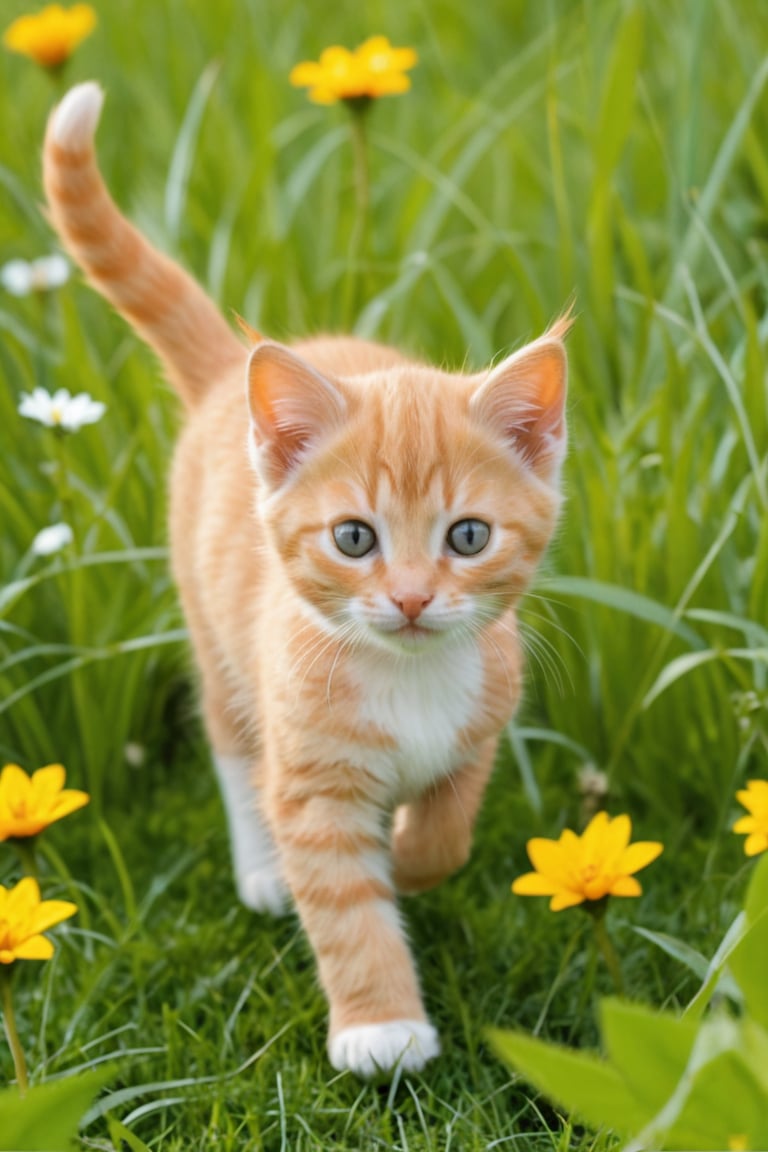
POLYGON ((254 348, 263 516, 326 627, 418 652, 525 591, 560 505, 568 326, 477 376, 402 363, 332 378, 280 344, 254 348))

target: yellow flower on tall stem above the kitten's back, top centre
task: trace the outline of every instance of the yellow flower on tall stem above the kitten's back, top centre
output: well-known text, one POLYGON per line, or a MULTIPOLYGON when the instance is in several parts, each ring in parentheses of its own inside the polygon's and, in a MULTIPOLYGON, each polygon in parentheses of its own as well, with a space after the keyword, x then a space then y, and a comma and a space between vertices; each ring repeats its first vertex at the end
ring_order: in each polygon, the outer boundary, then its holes
POLYGON ((296 65, 289 78, 295 88, 309 88, 315 104, 373 100, 406 92, 411 81, 405 73, 417 60, 413 48, 393 48, 386 36, 372 36, 353 52, 326 48, 319 61, 296 65))

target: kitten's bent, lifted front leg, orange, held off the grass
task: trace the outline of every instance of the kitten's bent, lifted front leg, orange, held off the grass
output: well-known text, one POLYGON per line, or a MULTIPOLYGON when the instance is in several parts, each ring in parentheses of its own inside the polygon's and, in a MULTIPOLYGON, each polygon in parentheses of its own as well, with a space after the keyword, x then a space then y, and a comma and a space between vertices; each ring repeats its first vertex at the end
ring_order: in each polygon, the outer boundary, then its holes
POLYGON ((495 737, 485 741, 471 763, 395 812, 391 846, 398 892, 433 888, 466 864, 496 744, 495 737))

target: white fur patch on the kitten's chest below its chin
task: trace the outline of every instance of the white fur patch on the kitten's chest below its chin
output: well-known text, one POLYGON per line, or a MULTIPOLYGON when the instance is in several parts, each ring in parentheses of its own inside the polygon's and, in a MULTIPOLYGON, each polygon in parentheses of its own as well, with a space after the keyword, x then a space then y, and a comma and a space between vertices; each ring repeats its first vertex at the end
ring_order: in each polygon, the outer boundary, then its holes
POLYGON ((477 646, 436 646, 412 657, 372 658, 362 719, 394 741, 368 767, 389 780, 396 799, 423 791, 462 760, 458 735, 477 714, 482 659, 477 646))

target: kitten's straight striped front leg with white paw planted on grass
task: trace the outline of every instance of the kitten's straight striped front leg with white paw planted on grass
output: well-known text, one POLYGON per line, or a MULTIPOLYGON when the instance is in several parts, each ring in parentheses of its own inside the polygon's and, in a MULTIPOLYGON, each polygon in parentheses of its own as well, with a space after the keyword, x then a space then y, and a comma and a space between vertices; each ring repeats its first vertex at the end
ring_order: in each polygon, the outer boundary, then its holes
POLYGON ((440 1051, 395 904, 375 781, 333 766, 333 782, 294 776, 268 814, 282 869, 330 1007, 334 1068, 416 1071, 440 1051))

